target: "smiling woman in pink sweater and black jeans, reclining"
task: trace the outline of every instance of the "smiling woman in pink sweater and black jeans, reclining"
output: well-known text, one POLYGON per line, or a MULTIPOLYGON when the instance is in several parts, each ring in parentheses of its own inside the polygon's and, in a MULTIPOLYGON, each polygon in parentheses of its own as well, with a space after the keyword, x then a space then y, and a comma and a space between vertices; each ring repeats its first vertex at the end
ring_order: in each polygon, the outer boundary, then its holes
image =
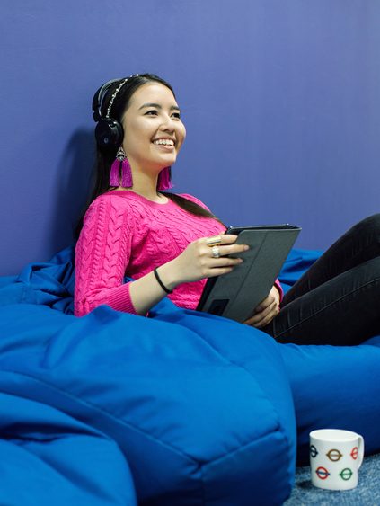
MULTIPOLYGON (((146 315, 166 295, 195 309, 206 279, 232 271, 248 246, 223 234, 195 197, 164 192, 186 136, 172 87, 150 74, 110 81, 93 111, 97 180, 75 250, 75 315, 101 304, 146 315), (125 275, 135 280, 123 283, 125 275)), ((358 224, 282 301, 276 281, 245 323, 279 342, 354 344, 376 335, 379 230, 379 216, 358 224)))

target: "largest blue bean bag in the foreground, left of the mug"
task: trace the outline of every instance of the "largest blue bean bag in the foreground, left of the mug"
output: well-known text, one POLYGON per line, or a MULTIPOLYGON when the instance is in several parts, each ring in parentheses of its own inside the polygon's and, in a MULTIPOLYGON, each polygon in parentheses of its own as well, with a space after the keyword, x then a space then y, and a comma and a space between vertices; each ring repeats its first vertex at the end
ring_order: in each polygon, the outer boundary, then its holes
MULTIPOLYGON (((106 306, 75 318, 27 304, 0 307, 0 318, 8 329, 1 391, 69 413, 115 441, 139 502, 286 500, 294 406, 267 335, 168 301, 153 319, 106 306)), ((52 422, 47 413, 36 437, 52 422)))

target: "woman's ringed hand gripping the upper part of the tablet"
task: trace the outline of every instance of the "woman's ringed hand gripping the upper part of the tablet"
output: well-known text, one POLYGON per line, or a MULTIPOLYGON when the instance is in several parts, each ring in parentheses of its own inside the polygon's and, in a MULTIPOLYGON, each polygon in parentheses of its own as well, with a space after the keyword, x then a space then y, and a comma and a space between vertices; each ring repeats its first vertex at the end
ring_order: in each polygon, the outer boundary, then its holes
POLYGON ((208 237, 202 237, 188 245, 188 247, 171 262, 160 267, 167 286, 170 289, 189 281, 203 280, 221 276, 231 272, 235 265, 243 262, 240 258, 234 258, 234 254, 243 253, 249 249, 246 244, 234 244, 237 235, 220 235, 220 244, 214 246, 220 256, 213 256, 213 248, 207 243, 208 237), (227 255, 232 255, 227 256, 227 255))

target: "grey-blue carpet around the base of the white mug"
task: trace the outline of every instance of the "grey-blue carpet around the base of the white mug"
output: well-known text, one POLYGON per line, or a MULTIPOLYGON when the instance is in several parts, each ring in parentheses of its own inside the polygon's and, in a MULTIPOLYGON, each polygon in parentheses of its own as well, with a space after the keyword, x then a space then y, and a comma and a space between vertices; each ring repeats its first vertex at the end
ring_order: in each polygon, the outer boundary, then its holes
POLYGON ((296 484, 284 506, 380 506, 380 454, 366 457, 359 470, 358 487, 346 491, 316 488, 310 481, 310 467, 298 467, 296 484))

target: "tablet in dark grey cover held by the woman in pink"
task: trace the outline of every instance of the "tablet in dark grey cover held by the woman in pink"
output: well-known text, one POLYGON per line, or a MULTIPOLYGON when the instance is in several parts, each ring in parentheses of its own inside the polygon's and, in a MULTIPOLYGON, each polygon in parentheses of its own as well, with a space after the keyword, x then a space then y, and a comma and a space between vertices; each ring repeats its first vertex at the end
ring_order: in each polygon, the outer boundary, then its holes
POLYGON ((244 262, 233 271, 208 278, 197 310, 247 320, 268 297, 300 231, 294 225, 230 226, 225 234, 238 235, 236 244, 248 244, 250 249, 236 255, 244 262))

